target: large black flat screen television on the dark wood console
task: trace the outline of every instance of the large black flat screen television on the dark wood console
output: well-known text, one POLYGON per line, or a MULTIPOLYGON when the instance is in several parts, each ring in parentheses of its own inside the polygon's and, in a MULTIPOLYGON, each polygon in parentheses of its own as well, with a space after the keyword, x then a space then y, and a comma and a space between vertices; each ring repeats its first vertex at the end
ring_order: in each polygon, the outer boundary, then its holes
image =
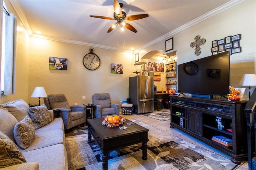
POLYGON ((212 98, 230 93, 229 52, 178 64, 178 91, 195 97, 212 98))

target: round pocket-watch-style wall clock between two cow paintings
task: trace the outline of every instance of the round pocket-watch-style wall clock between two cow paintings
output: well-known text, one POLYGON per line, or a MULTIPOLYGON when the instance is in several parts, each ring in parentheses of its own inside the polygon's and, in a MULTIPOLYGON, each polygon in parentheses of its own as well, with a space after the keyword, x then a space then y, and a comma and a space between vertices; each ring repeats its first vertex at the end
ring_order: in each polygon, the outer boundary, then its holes
POLYGON ((94 54, 94 49, 90 48, 90 53, 86 54, 83 59, 84 66, 89 70, 96 70, 100 66, 100 57, 94 54))

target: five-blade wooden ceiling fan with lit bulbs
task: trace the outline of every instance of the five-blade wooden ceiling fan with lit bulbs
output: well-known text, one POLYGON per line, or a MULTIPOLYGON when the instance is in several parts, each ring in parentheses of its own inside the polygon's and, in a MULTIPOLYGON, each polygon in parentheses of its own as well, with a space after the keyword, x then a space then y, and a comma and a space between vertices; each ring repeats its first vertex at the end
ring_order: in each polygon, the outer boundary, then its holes
POLYGON ((133 31, 134 33, 136 33, 137 30, 131 24, 125 22, 125 20, 127 21, 140 20, 142 18, 148 17, 148 14, 138 14, 138 15, 132 15, 132 16, 126 17, 126 13, 121 11, 121 8, 123 6, 124 4, 119 3, 118 0, 114 0, 114 11, 115 11, 114 18, 104 17, 104 16, 90 16, 90 17, 101 18, 106 20, 116 20, 117 22, 112 24, 108 29, 108 33, 114 30, 118 25, 120 25, 122 31, 124 31, 124 27, 126 27, 130 31, 133 31))

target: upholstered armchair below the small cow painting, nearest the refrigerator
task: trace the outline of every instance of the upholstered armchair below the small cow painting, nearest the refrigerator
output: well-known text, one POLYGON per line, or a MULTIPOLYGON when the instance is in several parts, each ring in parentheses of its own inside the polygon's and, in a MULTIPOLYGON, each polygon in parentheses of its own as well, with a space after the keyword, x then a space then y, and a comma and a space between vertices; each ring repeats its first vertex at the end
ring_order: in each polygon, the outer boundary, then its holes
POLYGON ((92 104, 96 106, 96 118, 107 115, 119 115, 119 104, 112 104, 109 93, 95 93, 92 96, 92 104))

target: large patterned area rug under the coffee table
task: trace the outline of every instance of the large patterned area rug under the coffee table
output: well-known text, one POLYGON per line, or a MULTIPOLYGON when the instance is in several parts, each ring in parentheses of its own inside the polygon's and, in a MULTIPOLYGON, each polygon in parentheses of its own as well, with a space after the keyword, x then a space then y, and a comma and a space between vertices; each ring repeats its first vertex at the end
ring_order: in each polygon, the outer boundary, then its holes
MULTIPOLYGON (((147 160, 142 160, 141 143, 109 152, 109 170, 231 170, 230 159, 203 149, 150 125, 133 120, 148 132, 147 160)), ((69 170, 102 169, 102 153, 88 135, 66 137, 69 170)), ((94 141, 94 140, 92 140, 94 141)), ((121 141, 120 141, 121 142, 121 141)))

